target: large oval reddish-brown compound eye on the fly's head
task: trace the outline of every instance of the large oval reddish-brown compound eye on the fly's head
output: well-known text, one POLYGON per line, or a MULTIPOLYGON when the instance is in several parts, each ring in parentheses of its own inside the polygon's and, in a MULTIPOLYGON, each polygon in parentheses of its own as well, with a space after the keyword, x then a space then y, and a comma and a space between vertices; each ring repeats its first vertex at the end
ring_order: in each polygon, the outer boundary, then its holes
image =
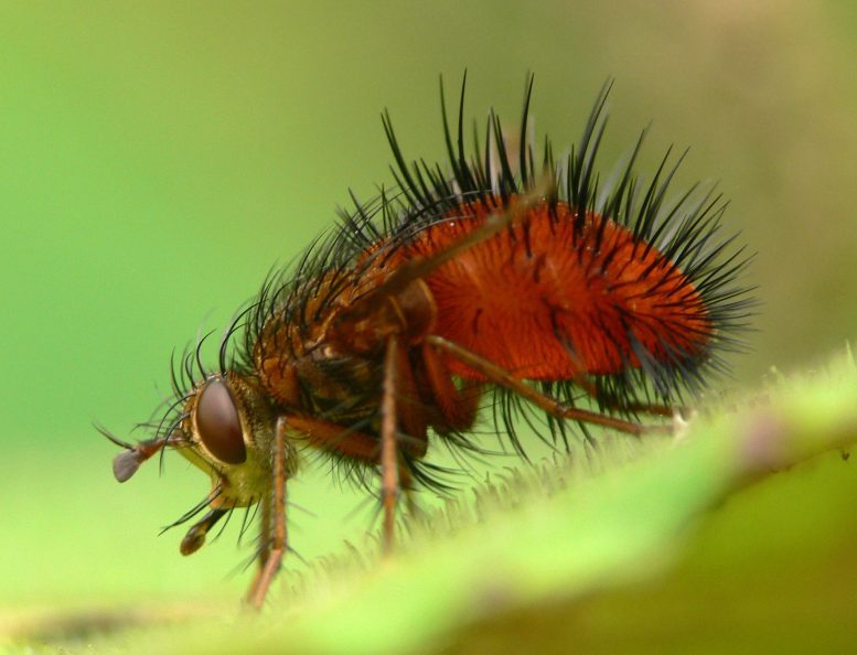
POLYGON ((222 462, 240 464, 247 459, 238 410, 223 382, 212 380, 202 390, 196 404, 196 429, 208 452, 222 462))

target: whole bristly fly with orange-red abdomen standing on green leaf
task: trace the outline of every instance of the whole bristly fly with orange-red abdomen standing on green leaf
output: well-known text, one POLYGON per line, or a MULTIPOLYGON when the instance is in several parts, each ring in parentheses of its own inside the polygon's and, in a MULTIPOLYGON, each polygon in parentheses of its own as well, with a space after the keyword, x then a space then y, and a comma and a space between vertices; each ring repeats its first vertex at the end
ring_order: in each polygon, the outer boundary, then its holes
POLYGON ((598 193, 607 89, 572 154, 555 162, 547 144, 536 170, 531 90, 517 158, 493 116, 484 151, 476 143, 469 158, 462 89, 457 139, 443 111, 449 173, 408 164, 385 116, 398 191, 356 203, 296 269, 272 276, 224 336, 216 373, 184 358, 152 439, 110 437, 126 449, 120 481, 164 448, 211 476, 210 496, 179 522, 207 508, 184 554, 234 508, 260 505, 251 603, 287 547, 286 482, 306 450, 358 477, 379 473, 389 547, 399 490, 441 484, 430 442, 479 450, 470 429, 486 404, 522 453, 514 419, 532 407, 564 440, 568 422, 586 438, 592 425, 639 434, 638 415, 668 416, 740 347, 752 299, 736 281, 747 259, 720 236, 719 196, 667 201, 675 165, 665 158, 641 182, 640 142, 598 193))

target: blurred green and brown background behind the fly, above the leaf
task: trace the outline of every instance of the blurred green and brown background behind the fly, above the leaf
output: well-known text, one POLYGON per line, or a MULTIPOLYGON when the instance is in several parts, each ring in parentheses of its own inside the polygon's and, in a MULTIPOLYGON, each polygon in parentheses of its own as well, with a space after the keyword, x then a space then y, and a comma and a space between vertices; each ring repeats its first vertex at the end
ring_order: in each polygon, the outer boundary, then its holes
MULTIPOLYGON (((170 351, 219 328, 389 183, 378 114, 406 154, 443 155, 438 75, 468 114, 579 136, 614 76, 602 170, 653 120, 641 170, 692 146, 759 256, 753 353, 729 385, 811 367, 857 334, 857 10, 849 2, 28 2, 0 6, 0 604, 232 598, 237 552, 158 538, 206 492, 179 458, 119 486, 116 449, 168 388, 170 351), (224 581, 224 578, 226 580, 224 581)), ((340 547, 353 497, 292 485, 307 559, 340 547)))

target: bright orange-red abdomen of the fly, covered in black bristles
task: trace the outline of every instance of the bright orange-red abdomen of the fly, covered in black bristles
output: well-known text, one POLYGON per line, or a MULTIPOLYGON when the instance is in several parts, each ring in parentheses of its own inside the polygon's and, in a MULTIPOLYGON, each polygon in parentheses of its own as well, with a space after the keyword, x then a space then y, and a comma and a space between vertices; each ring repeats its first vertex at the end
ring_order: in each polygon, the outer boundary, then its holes
MULTIPOLYGON (((460 215, 421 232, 409 257, 443 250, 491 212, 460 215)), ((713 334, 707 308, 688 278, 654 248, 588 214, 576 236, 566 204, 536 205, 525 219, 473 246, 426 278, 437 302, 436 333, 522 378, 556 380, 615 374, 698 356, 713 334)), ((481 376, 448 358, 467 378, 481 376)))

